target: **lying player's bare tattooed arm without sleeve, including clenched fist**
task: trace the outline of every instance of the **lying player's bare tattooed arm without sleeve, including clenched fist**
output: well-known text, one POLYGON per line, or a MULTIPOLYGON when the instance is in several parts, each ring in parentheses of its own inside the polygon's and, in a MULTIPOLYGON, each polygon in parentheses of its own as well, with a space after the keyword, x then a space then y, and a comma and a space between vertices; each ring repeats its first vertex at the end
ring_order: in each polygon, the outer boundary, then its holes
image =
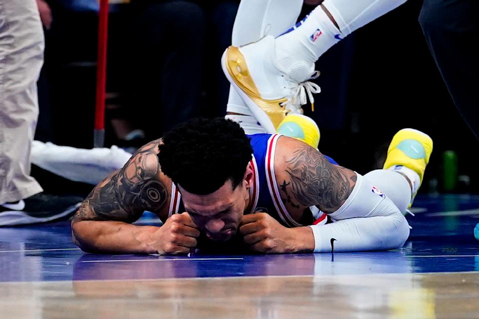
POLYGON ((187 215, 170 218, 162 227, 131 224, 145 210, 165 216, 168 209, 167 186, 171 180, 160 170, 159 143, 160 140, 153 141, 138 150, 122 169, 98 184, 83 201, 72 220, 73 240, 82 250, 187 253, 189 246, 196 246, 197 230, 187 215), (180 238, 185 232, 188 238, 180 238))

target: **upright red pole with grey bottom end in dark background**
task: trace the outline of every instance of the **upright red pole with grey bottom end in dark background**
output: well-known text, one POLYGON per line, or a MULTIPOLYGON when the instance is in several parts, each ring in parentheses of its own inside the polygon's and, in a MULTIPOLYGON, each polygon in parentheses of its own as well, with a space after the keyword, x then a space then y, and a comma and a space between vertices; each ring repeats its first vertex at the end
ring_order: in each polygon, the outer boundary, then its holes
POLYGON ((100 0, 98 19, 98 60, 96 69, 95 130, 93 147, 101 148, 105 142, 106 53, 108 42, 108 0, 100 0))

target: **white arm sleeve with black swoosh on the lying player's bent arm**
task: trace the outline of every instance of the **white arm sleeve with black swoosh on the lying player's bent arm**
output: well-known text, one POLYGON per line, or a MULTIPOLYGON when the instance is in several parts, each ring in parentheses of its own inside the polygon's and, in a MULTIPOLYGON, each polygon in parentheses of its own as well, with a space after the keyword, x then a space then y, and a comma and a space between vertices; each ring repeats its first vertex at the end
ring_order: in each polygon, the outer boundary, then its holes
POLYGON ((409 224, 398 207, 365 177, 358 180, 346 202, 329 214, 333 223, 312 225, 314 252, 370 251, 400 248, 409 237, 409 224))

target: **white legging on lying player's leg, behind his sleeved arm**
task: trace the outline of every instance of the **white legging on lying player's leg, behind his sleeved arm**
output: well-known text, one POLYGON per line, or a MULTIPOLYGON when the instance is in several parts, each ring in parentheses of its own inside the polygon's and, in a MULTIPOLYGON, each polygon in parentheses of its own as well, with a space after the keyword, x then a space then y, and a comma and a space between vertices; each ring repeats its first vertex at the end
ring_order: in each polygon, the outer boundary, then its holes
POLYGON ((374 186, 381 189, 401 213, 411 202, 411 186, 406 178, 400 173, 388 169, 376 169, 364 175, 374 186))

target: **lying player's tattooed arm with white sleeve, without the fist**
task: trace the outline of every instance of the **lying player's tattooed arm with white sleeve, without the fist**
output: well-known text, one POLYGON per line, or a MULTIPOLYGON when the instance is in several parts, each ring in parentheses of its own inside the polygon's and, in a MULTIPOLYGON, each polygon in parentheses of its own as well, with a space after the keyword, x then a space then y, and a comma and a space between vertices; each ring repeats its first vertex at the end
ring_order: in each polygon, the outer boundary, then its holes
POLYGON ((335 221, 288 230, 294 249, 331 251, 334 240, 335 251, 387 250, 407 240, 408 222, 391 199, 374 192, 367 178, 290 138, 280 138, 277 150, 276 178, 286 204, 316 205, 335 221))

